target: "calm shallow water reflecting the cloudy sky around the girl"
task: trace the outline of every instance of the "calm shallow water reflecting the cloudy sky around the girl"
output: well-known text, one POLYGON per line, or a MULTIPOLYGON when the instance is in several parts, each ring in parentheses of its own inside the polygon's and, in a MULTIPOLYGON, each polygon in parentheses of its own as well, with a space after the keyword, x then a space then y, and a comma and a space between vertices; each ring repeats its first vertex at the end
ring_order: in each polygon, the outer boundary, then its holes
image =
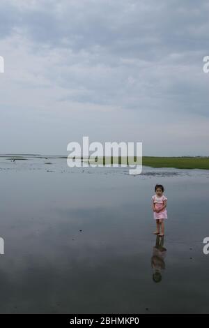
POLYGON ((0 177, 1 313, 209 313, 209 171, 144 167, 133 177, 0 158, 0 177), (156 183, 169 214, 157 250, 156 183))

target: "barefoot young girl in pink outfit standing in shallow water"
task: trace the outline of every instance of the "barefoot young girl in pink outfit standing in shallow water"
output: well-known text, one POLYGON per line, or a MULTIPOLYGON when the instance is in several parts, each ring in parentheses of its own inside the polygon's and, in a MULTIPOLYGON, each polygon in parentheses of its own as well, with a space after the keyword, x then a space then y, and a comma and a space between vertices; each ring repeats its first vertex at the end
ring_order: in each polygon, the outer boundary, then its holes
POLYGON ((158 234, 160 237, 164 236, 164 219, 167 218, 167 197, 165 197, 163 193, 164 186, 162 186, 162 184, 156 184, 155 195, 152 197, 153 214, 157 224, 157 230, 154 234, 158 234))

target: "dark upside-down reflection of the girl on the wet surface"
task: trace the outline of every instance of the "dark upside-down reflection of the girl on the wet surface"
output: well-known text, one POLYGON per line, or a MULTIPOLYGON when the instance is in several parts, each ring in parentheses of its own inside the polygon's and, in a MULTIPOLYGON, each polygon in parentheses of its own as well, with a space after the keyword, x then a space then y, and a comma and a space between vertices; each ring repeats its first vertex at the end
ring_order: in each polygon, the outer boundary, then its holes
POLYGON ((153 268, 153 281, 160 283, 162 281, 162 270, 165 269, 164 258, 166 256, 167 249, 163 247, 164 238, 157 236, 156 245, 153 247, 153 257, 151 258, 151 264, 153 268))

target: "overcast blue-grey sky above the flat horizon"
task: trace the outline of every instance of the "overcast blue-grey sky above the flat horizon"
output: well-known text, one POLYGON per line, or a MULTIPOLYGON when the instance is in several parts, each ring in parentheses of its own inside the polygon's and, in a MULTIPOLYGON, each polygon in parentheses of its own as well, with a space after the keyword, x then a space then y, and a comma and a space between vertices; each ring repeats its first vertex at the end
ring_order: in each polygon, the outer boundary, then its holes
POLYGON ((0 153, 209 156, 209 2, 1 0, 0 153))

